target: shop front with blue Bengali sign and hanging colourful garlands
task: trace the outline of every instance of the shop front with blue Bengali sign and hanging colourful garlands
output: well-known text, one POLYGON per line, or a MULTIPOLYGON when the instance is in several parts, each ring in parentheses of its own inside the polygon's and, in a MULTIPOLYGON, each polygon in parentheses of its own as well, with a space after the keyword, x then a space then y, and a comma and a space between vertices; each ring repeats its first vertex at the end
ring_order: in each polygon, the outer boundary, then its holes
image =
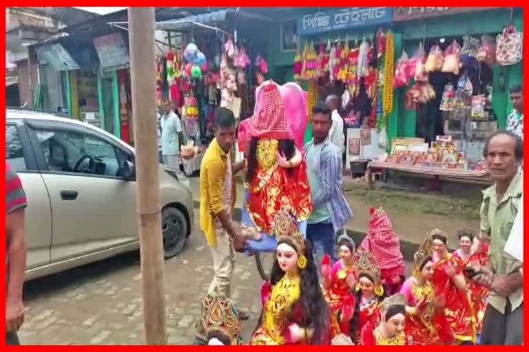
MULTIPOLYGON (((344 118, 346 168, 376 159, 386 149, 393 113, 394 52, 400 34, 391 30, 393 8, 342 8, 303 14, 293 58, 293 78, 307 87, 313 104, 335 94, 344 118)), ((311 138, 310 125, 306 141, 311 138)))

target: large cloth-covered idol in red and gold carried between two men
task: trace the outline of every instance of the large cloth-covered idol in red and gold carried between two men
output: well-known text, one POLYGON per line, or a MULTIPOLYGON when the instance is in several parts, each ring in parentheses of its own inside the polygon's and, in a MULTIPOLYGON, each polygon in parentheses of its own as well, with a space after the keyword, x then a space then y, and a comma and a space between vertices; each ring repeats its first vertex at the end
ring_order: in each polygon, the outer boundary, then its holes
POLYGON ((287 102, 291 114, 306 111, 303 94, 295 83, 280 87, 269 80, 256 90, 254 115, 239 125, 238 142, 246 157, 247 188, 242 223, 261 234, 259 241, 248 241, 249 252, 275 250, 273 221, 280 208, 294 217, 303 233, 312 212, 307 166, 296 146, 295 135, 299 131, 293 132, 293 122, 289 122, 292 116, 285 112, 287 102))

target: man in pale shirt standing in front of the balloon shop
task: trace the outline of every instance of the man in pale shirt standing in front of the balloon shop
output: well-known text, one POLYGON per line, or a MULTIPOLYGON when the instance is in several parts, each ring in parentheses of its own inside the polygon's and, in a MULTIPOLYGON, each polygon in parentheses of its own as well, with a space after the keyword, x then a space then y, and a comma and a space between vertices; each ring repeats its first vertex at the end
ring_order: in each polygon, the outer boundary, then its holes
POLYGON ((163 163, 174 168, 180 167, 180 147, 184 141, 184 134, 182 130, 182 122, 174 111, 172 111, 172 103, 169 100, 164 100, 163 116, 160 119, 160 126, 162 128, 162 155, 163 163))

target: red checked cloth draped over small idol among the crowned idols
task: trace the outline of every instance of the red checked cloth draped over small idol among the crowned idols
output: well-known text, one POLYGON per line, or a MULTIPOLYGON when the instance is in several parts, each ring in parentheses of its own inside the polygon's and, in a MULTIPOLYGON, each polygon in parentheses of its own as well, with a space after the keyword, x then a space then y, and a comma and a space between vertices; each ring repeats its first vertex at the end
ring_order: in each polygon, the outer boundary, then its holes
POLYGON ((371 208, 370 212, 369 230, 359 249, 373 254, 380 267, 382 281, 391 276, 404 276, 400 241, 393 232, 393 225, 388 215, 382 208, 379 210, 371 208))

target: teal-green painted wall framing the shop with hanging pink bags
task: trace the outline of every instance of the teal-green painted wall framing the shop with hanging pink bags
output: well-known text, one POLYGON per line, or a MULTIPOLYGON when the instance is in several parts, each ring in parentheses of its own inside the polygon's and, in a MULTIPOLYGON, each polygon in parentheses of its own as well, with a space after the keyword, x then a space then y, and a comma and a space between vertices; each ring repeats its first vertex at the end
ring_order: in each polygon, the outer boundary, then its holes
MULTIPOLYGON (((498 34, 510 23, 510 8, 500 8, 473 12, 470 14, 455 14, 444 17, 434 17, 424 21, 407 21, 395 23, 395 31, 402 34, 404 50, 411 57, 417 50, 419 41, 424 38, 449 36, 464 36, 466 34, 479 38, 482 34, 498 34)), ((515 9, 513 22, 517 30, 523 31, 523 12, 515 9)), ((400 56, 400 50, 395 50, 395 58, 400 56)), ((492 67, 492 108, 494 109, 499 128, 505 128, 506 118, 512 105, 509 99, 509 87, 521 84, 523 80, 523 62, 513 66, 492 67), (504 87, 500 85, 500 77, 504 78, 504 87)), ((417 114, 415 110, 404 110, 404 88, 395 91, 395 102, 402 111, 397 118, 397 135, 400 137, 415 137, 417 114), (397 93, 398 92, 398 93, 397 93), (398 96, 398 100, 397 100, 398 96)))

